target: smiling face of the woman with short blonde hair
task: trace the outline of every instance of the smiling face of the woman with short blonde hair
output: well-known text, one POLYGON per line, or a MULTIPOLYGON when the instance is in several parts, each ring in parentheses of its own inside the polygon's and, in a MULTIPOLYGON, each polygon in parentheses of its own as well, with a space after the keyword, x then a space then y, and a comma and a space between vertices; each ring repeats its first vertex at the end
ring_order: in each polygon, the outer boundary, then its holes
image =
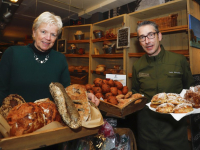
POLYGON ((58 36, 58 27, 54 24, 41 23, 37 30, 33 30, 35 47, 45 52, 53 47, 58 36))

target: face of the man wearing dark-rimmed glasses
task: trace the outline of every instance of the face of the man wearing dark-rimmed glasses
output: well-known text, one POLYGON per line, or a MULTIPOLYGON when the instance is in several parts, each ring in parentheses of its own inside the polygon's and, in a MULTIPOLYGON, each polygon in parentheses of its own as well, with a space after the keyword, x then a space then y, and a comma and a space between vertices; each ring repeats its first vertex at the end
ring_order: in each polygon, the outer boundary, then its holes
POLYGON ((156 33, 155 28, 152 25, 141 26, 138 29, 138 37, 147 35, 149 35, 149 37, 154 37, 155 35, 155 37, 154 38, 143 37, 144 41, 139 41, 140 45, 150 57, 156 56, 161 51, 159 42, 162 39, 162 34, 160 32, 156 33))

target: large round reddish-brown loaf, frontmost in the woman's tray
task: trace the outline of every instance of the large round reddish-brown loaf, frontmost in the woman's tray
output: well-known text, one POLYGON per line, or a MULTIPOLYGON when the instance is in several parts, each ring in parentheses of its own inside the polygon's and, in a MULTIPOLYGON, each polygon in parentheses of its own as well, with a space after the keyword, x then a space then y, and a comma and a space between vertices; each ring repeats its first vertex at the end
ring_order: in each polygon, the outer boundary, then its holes
POLYGON ((13 107, 6 120, 11 126, 11 136, 31 133, 45 125, 42 108, 32 102, 13 107))

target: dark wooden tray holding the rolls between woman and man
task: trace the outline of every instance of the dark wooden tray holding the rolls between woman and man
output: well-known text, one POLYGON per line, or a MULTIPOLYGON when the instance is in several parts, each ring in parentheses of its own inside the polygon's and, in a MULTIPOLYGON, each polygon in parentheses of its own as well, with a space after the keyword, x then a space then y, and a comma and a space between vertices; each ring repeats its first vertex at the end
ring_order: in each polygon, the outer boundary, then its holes
POLYGON ((119 118, 124 118, 125 116, 142 109, 146 103, 147 103, 147 98, 141 97, 131 101, 125 107, 120 108, 116 105, 101 100, 99 104, 99 109, 109 113, 109 115, 111 114, 119 118), (135 101, 138 99, 142 99, 142 101, 140 103, 135 104, 135 101))

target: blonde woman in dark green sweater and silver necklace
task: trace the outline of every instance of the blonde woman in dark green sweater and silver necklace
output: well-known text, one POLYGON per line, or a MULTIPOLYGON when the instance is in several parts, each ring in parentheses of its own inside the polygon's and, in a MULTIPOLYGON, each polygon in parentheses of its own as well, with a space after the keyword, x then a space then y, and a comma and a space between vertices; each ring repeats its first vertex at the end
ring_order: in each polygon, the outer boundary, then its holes
MULTIPOLYGON (((34 42, 27 46, 9 47, 0 61, 0 101, 9 94, 18 94, 26 102, 42 98, 53 99, 49 84, 70 85, 65 56, 52 49, 62 30, 59 16, 50 12, 39 15, 33 23, 34 42)), ((89 95, 96 105, 99 100, 89 95)))

